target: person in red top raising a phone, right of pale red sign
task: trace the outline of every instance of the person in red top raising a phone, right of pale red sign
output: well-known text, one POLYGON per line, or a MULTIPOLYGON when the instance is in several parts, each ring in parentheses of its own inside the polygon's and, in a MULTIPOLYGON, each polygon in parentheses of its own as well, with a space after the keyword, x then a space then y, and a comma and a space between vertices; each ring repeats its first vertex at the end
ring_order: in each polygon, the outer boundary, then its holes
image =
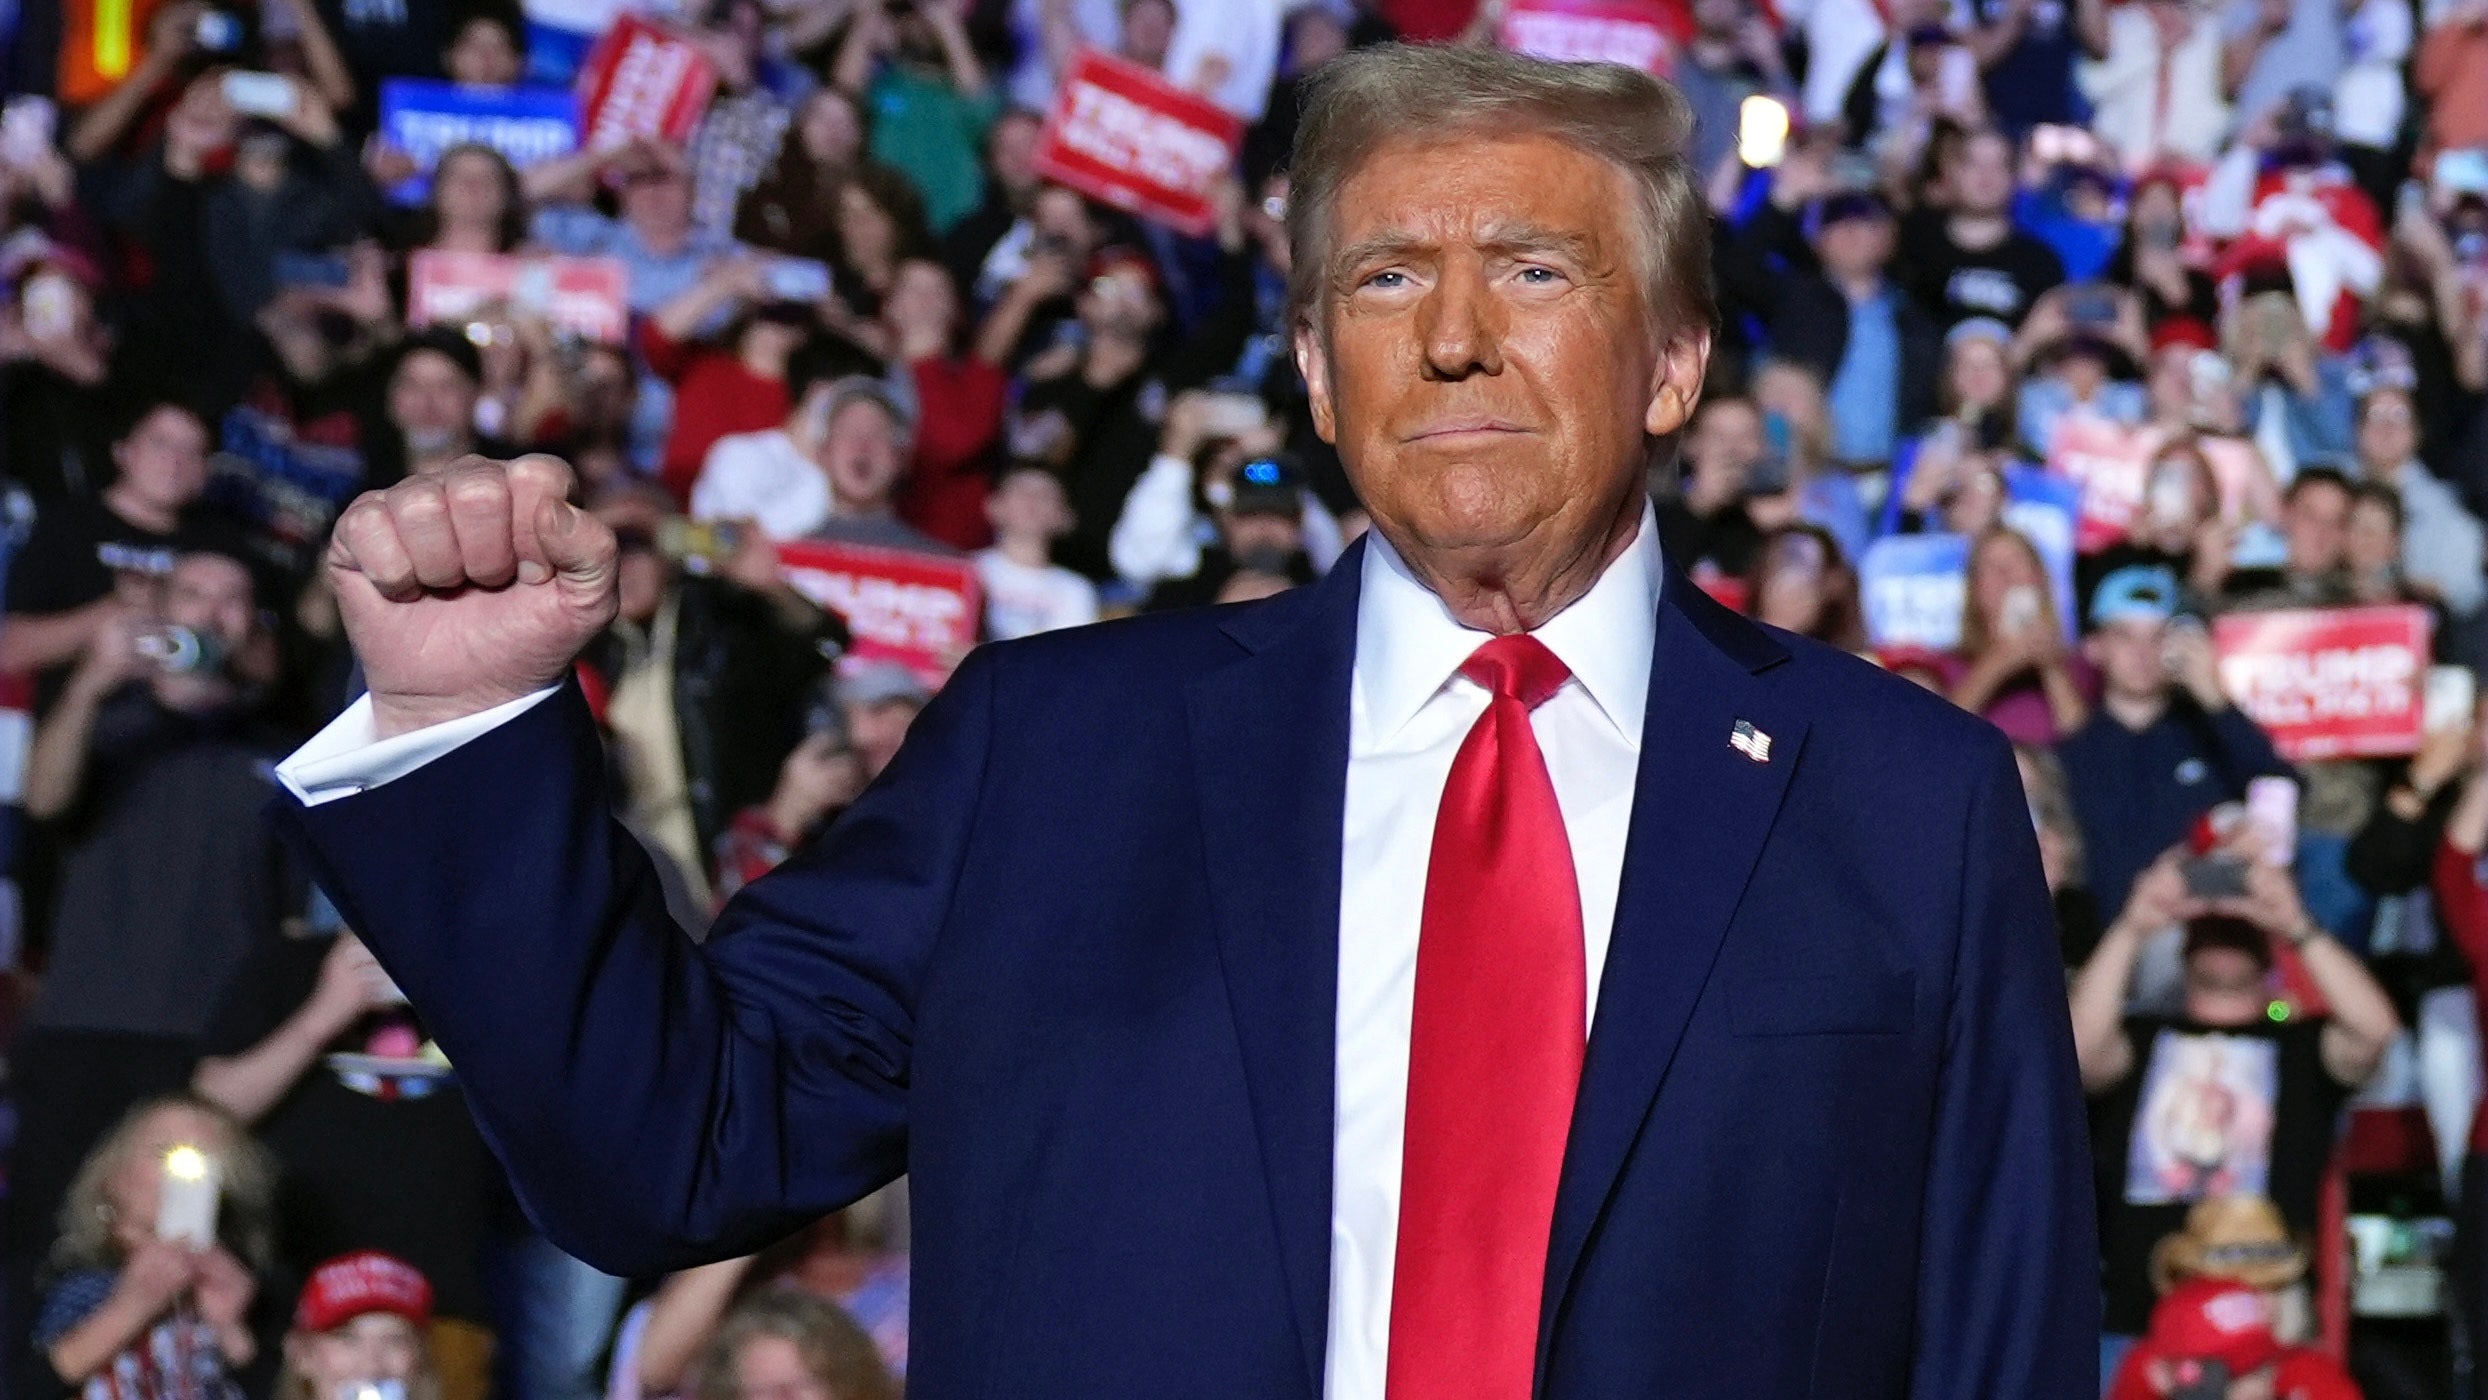
POLYGON ((786 358, 821 328, 804 301, 771 298, 759 259, 722 259, 639 323, 639 356, 674 385, 674 430, 664 440, 659 480, 677 502, 709 448, 729 433, 759 433, 786 420, 786 358), (741 313, 717 341, 697 338, 719 313, 741 313))

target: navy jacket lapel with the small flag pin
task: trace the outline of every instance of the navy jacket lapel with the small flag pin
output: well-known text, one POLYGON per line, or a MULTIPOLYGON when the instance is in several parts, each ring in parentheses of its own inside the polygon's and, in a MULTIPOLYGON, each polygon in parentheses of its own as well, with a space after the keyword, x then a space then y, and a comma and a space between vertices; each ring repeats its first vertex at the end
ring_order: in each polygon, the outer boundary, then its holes
POLYGON ((1781 661, 1786 649, 1771 634, 1669 569, 1615 935, 1555 1194, 1540 1368, 1582 1248, 1650 1117, 1806 741, 1804 716, 1759 676, 1781 661), (1737 721, 1769 736, 1766 761, 1747 751, 1752 744, 1729 744, 1737 721))

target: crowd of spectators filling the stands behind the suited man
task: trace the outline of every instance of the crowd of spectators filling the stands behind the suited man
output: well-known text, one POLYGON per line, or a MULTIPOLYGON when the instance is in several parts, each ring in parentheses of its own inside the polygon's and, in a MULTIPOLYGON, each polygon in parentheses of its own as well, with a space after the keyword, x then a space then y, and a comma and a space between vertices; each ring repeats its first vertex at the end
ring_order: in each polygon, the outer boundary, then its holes
MULTIPOLYGON (((1334 567, 1363 515, 1291 353, 1296 92, 1348 45, 1498 42, 1533 0, 629 7, 717 72, 689 137, 525 167, 418 159, 378 102, 560 87, 577 45, 535 5, 157 0, 80 82, 50 47, 102 7, 10 10, 20 1395, 898 1395, 903 1184, 662 1281, 565 1258, 269 836, 271 761, 361 691, 328 525, 468 453, 577 467, 622 542, 580 681, 617 818, 699 930, 958 661, 858 647, 781 550, 963 567, 980 639, 1334 567), (1045 174, 1082 50, 1242 122, 1207 231, 1045 174), (525 279, 433 316, 420 254, 610 259, 627 323, 582 333, 525 279), (219 1209, 182 1233, 202 1159, 219 1209)), ((2018 744, 2095 1107, 2102 1385, 2359 1393, 2311 1263, 2364 1094, 2426 1104, 2463 1221, 2443 1365, 2408 1393, 2481 1393, 2488 5, 1650 10, 1722 308, 1652 470, 1672 587, 2018 744), (1948 560, 1898 579, 1933 617, 1883 607, 1903 555, 1948 560), (2448 696, 2416 753, 2284 758, 2217 624, 2393 604, 2448 696)))

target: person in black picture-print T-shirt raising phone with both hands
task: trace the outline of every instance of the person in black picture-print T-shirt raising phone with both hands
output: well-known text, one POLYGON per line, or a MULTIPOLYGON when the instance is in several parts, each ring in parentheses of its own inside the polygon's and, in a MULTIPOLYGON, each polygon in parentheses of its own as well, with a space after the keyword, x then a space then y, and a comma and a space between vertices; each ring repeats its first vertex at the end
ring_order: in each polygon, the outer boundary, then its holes
POLYGON ((2095 1097, 2107 1335, 2142 1330, 2160 1241, 2197 1201, 2269 1196, 2299 1238, 2316 1228, 2344 1099, 2401 1034, 2384 987, 2306 913, 2286 863, 2239 838, 2177 845, 2135 880, 2073 977, 2073 1037, 2095 1097), (2227 860, 2244 893, 2197 893, 2192 860, 2227 860), (2135 1005, 2137 970, 2182 928, 2179 1005, 2135 1005), (2279 1000, 2286 945, 2321 1015, 2279 1000))

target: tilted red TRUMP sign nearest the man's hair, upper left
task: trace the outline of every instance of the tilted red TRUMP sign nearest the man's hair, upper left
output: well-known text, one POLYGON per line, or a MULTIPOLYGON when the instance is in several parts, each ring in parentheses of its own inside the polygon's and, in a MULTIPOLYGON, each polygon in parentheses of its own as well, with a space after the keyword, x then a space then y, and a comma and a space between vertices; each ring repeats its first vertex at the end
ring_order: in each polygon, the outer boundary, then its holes
POLYGON ((1209 194, 1242 144, 1234 112, 1135 62, 1080 50, 1045 114, 1037 174, 1199 236, 1217 224, 1209 194))

